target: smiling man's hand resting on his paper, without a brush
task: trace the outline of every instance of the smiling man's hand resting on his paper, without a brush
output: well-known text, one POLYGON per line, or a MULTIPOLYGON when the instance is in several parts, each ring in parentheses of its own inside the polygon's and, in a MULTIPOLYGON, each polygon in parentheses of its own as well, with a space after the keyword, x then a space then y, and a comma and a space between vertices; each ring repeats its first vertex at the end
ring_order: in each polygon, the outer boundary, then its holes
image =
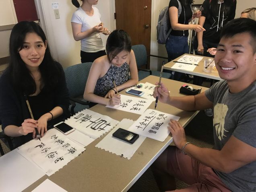
POLYGON ((173 142, 176 145, 176 147, 182 149, 182 147, 187 142, 184 128, 178 121, 175 120, 170 120, 169 126, 167 128, 172 134, 173 142))

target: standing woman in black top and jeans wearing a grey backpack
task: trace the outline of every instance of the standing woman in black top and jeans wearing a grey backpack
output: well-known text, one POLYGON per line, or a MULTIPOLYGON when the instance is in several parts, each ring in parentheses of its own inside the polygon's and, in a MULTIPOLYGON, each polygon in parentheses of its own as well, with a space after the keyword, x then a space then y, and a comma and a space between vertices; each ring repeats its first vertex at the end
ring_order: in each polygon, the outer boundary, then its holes
MULTIPOLYGON (((199 18, 201 12, 193 14, 191 4, 193 0, 170 0, 169 17, 172 31, 166 40, 165 48, 168 54, 168 61, 178 58, 184 53, 188 53, 188 30, 196 32, 205 31, 201 25, 188 24, 195 17, 199 18), (181 10, 181 11, 179 11, 181 10), (180 14, 179 14, 180 12, 180 14)), ((181 74, 175 72, 174 80, 180 80, 181 74)))

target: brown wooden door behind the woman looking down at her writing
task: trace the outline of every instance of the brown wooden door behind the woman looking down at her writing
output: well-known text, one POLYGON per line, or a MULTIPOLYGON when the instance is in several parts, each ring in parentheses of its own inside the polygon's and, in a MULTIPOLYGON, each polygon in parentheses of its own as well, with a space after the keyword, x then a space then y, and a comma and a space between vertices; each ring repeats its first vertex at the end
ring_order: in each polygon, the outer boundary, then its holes
POLYGON ((143 44, 150 54, 151 0, 115 0, 116 29, 132 38, 132 45, 143 44))

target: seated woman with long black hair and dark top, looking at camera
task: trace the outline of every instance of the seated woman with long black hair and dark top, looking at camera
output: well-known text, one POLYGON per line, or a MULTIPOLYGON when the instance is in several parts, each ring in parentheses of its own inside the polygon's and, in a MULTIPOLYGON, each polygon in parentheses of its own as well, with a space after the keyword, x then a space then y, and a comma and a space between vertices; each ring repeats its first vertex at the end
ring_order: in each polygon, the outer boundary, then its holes
POLYGON ((0 119, 5 134, 14 137, 18 147, 35 138, 35 128, 42 137, 68 116, 68 89, 62 66, 53 60, 45 34, 35 22, 13 27, 9 52, 9 66, 0 78, 0 119))

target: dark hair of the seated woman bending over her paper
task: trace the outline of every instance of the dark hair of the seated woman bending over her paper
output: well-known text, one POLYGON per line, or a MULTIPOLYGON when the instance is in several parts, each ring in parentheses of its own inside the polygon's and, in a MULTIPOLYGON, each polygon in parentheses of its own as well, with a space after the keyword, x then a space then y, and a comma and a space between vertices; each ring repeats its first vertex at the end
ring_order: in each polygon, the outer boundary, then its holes
POLYGON ((114 30, 107 37, 106 52, 109 62, 123 50, 131 52, 132 40, 124 30, 114 30))

